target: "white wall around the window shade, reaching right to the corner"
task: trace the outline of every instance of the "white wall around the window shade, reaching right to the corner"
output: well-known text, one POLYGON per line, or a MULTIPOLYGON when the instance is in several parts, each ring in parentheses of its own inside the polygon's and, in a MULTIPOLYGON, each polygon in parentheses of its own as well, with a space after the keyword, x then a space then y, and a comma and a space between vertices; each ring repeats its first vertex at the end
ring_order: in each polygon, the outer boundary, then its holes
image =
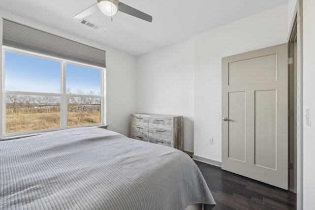
MULTIPOLYGON (((6 18, 33 28, 44 30, 83 44, 106 50, 107 73, 107 124, 108 129, 124 135, 130 133, 130 113, 136 110, 136 58, 125 53, 97 45, 93 42, 80 39, 74 35, 55 30, 30 20, 0 11, 0 19, 6 18)), ((2 37, 2 21, 0 24, 0 37, 2 37)), ((0 42, 2 46, 2 38, 0 42)), ((2 58, 2 50, 0 51, 2 58)), ((1 64, 1 61, 0 61, 1 64)), ((2 66, 2 64, 0 65, 2 66)))

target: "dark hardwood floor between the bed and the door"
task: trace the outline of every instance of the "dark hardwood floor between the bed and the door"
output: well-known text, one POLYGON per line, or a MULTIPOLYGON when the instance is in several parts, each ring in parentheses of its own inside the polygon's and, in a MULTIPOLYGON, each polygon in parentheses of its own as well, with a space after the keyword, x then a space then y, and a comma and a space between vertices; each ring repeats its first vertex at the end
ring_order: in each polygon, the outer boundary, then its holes
POLYGON ((195 161, 217 203, 213 210, 295 210, 296 194, 195 161))

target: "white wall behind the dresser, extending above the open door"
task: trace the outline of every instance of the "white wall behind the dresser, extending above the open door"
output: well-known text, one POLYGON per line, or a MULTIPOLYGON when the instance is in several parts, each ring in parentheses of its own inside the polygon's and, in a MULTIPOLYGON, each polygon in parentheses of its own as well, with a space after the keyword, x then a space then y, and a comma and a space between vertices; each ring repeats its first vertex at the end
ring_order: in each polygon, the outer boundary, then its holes
POLYGON ((221 58, 285 43, 287 17, 284 4, 137 58, 137 112, 183 115, 184 150, 221 162, 221 58))

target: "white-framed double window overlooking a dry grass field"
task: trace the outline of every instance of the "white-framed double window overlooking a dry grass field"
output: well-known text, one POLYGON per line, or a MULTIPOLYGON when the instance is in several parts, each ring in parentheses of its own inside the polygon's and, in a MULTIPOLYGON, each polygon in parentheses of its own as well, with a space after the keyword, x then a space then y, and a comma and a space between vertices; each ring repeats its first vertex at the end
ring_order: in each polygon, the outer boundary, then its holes
POLYGON ((104 68, 3 47, 3 136, 102 125, 104 68))

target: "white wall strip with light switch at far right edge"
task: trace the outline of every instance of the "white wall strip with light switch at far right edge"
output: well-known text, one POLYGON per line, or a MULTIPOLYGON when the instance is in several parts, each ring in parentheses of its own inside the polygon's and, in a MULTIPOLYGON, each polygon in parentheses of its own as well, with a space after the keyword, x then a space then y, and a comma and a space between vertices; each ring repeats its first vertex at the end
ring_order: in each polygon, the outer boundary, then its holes
POLYGON ((315 1, 303 0, 303 105, 312 109, 312 126, 304 119, 303 132, 303 207, 305 210, 315 209, 315 1))

